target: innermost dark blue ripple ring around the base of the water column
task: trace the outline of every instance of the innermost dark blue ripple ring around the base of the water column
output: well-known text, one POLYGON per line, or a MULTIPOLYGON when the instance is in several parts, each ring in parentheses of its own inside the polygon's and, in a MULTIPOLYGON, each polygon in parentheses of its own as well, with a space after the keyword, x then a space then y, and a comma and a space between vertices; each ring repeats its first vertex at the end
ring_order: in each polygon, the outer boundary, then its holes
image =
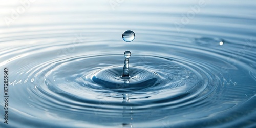
MULTIPOLYGON (((113 67, 102 69, 92 76, 92 81, 105 88, 117 89, 117 92, 138 91, 144 88, 155 86, 159 77, 153 72, 147 72, 145 69, 134 67, 130 69, 130 77, 122 78, 122 67, 113 67), (146 75, 144 75, 146 74, 146 75), (125 90, 127 91, 125 91, 125 90)), ((87 80, 87 79, 86 79, 87 80)))

